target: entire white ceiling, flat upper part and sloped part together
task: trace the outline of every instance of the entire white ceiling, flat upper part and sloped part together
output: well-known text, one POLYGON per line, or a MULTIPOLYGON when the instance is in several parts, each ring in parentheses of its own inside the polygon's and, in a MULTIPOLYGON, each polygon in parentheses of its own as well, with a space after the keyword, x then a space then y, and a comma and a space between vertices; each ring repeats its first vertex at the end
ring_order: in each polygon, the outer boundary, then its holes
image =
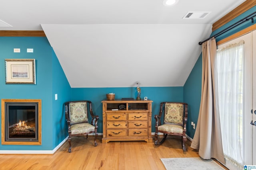
POLYGON ((198 42, 244 1, 12 0, 0 10, 12 27, 0 30, 43 30, 71 87, 183 86, 198 42), (187 12, 210 14, 182 19, 187 12))

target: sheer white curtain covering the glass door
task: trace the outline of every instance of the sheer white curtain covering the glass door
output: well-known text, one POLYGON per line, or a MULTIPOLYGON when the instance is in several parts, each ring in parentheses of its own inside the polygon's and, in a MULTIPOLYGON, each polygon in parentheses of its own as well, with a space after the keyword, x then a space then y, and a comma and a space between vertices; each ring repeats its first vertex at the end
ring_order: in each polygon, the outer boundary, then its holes
POLYGON ((218 49, 215 64, 224 157, 242 167, 244 41, 218 49))

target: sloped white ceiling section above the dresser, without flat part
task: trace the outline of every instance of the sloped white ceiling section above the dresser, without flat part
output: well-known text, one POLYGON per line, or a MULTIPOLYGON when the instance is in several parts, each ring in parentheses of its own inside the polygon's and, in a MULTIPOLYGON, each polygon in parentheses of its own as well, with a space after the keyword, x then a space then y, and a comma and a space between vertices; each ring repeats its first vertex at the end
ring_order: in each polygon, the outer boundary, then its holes
POLYGON ((142 86, 183 86, 202 48, 194 43, 211 30, 210 24, 42 27, 72 87, 129 87, 137 81, 142 86))

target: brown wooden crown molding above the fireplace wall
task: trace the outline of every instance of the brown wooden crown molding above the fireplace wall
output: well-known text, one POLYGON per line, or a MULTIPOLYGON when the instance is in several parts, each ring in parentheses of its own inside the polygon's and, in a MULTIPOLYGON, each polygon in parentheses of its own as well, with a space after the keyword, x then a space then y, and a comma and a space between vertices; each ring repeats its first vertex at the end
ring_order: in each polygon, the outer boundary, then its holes
POLYGON ((46 37, 44 31, 1 31, 0 37, 46 37))

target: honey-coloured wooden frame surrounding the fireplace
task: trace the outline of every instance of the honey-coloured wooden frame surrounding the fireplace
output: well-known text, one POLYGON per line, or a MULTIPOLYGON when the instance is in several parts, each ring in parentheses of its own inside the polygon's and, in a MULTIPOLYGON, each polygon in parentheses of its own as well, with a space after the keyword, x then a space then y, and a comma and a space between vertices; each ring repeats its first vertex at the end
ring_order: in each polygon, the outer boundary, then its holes
POLYGON ((40 99, 2 99, 1 100, 2 113, 2 145, 42 145, 42 100, 40 99), (5 141, 5 103, 6 102, 37 102, 38 103, 38 141, 5 141))

